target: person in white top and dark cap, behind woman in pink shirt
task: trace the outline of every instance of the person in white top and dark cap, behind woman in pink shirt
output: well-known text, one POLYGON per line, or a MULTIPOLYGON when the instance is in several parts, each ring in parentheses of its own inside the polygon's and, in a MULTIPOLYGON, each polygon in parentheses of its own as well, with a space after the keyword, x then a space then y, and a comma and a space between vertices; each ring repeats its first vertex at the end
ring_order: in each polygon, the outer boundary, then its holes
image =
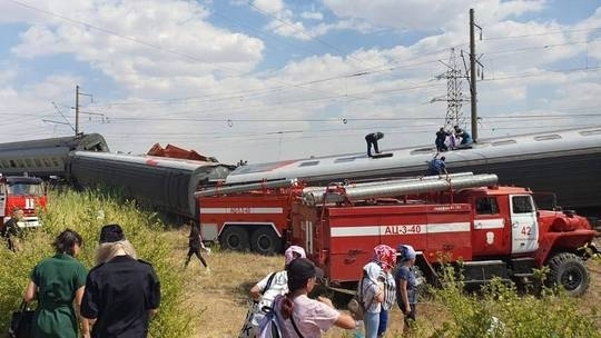
POLYGON ((257 282, 250 289, 253 307, 247 314, 245 325, 242 328, 238 338, 257 337, 258 325, 266 315, 263 309, 270 308, 276 296, 288 292, 288 276, 286 272, 286 267, 290 264, 290 261, 297 258, 305 258, 305 249, 298 246, 290 246, 284 252, 284 270, 265 276, 265 278, 259 280, 259 282, 257 282))

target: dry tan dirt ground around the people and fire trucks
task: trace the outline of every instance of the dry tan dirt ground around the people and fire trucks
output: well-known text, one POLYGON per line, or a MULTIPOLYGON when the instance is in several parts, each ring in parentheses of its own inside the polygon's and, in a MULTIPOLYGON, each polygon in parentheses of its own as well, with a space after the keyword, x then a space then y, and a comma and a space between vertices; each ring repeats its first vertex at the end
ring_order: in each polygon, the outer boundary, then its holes
MULTIPOLYGON (((187 233, 174 231, 173 236, 184 239, 187 233)), ((179 242, 184 242, 180 240, 179 242)), ((181 246, 174 255, 181 257, 187 247, 181 246)), ((189 280, 187 288, 187 308, 198 314, 194 327, 196 332, 190 337, 235 338, 248 309, 248 290, 267 274, 279 270, 284 266, 283 256, 265 257, 252 254, 214 252, 207 257, 210 271, 200 261, 193 259, 186 269, 189 280)), ((583 308, 597 306, 601 300, 601 265, 590 262, 591 287, 580 298, 583 308)), ((443 311, 435 304, 420 304, 418 316, 426 318, 444 318, 443 311)), ((395 307, 391 311, 386 337, 401 337, 403 319, 395 307)), ((352 337, 349 331, 334 328, 324 337, 352 337)))

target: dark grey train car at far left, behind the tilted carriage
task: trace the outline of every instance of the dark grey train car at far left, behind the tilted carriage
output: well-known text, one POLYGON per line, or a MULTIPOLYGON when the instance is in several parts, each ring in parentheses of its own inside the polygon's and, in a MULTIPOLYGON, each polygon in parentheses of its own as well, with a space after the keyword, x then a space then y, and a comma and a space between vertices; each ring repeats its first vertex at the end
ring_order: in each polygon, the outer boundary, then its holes
POLYGON ((109 151, 99 133, 0 143, 0 172, 20 176, 27 172, 40 178, 67 176, 69 152, 73 150, 109 151))

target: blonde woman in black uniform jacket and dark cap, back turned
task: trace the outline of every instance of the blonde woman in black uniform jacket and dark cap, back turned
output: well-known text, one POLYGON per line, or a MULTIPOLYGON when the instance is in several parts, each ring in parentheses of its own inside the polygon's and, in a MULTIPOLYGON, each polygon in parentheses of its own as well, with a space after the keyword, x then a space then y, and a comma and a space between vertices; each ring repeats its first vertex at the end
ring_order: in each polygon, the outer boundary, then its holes
POLYGON ((136 258, 119 225, 100 231, 98 266, 86 279, 81 315, 92 338, 144 338, 160 305, 160 282, 149 262, 136 258))

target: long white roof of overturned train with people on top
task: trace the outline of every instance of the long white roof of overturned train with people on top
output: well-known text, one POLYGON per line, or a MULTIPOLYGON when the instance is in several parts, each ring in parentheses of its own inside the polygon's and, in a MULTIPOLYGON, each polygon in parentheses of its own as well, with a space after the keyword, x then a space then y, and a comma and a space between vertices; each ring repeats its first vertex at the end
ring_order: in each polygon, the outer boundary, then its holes
MULTIPOLYGON (((556 130, 483 140, 471 149, 441 153, 447 163, 486 160, 512 161, 519 158, 560 157, 569 152, 601 153, 601 126, 585 129, 556 130)), ((436 155, 433 146, 405 147, 392 150, 387 158, 373 159, 364 152, 324 156, 308 159, 246 165, 234 170, 227 183, 242 183, 274 179, 339 179, 346 177, 390 176, 426 168, 436 155)))

